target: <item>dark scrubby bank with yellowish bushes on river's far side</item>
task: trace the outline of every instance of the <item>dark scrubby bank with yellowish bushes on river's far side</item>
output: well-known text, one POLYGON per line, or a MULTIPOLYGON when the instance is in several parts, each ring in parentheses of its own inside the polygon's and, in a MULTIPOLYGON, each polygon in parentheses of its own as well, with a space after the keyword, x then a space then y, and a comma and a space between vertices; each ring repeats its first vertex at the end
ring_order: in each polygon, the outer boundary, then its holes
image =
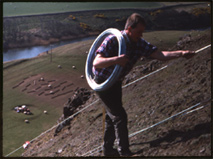
POLYGON ((155 9, 112 9, 3 18, 3 48, 49 45, 61 40, 98 35, 107 28, 122 30, 134 12, 153 30, 188 30, 211 26, 207 3, 163 6, 155 9), (163 18, 167 17, 167 18, 163 18))

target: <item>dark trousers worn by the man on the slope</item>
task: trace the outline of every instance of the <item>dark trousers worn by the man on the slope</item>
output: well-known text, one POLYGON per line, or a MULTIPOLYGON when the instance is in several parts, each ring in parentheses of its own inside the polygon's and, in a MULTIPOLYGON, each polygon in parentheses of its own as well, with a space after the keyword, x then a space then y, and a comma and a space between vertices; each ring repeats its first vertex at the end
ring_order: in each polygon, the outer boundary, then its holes
POLYGON ((104 148, 112 149, 115 139, 118 150, 129 150, 127 114, 122 106, 122 82, 116 82, 106 91, 97 92, 106 109, 104 148))

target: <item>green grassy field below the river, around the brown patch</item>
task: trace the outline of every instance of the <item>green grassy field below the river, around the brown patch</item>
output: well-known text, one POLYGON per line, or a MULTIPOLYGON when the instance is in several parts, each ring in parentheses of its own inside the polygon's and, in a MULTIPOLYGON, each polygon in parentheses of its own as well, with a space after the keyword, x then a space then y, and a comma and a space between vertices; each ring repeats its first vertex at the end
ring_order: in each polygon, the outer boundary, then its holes
MULTIPOLYGON (((172 47, 187 31, 156 31, 144 33, 144 38, 159 49, 172 47)), ((204 34, 205 31, 192 31, 192 37, 198 34, 204 34)), ((3 155, 7 155, 30 141, 42 132, 56 124, 57 119, 63 111, 63 104, 67 99, 62 101, 50 101, 38 98, 30 94, 21 92, 20 89, 13 89, 24 78, 36 74, 45 74, 49 77, 58 78, 64 76, 66 80, 71 79, 75 82, 78 77, 84 74, 84 66, 87 54, 92 40, 68 44, 53 49, 53 61, 50 63, 50 56, 43 55, 28 60, 18 60, 3 64, 3 155), (58 65, 62 69, 58 69, 58 65), (77 69, 73 70, 75 65, 77 69), (17 105, 29 104, 33 115, 27 116, 19 114, 12 109, 17 105), (47 110, 48 114, 43 111, 47 110), (29 119, 30 123, 24 123, 29 119)), ((78 86, 86 84, 84 80, 78 86)), ((77 85, 76 85, 77 87, 77 85)), ((71 94, 70 94, 71 96, 71 94)), ((23 148, 11 156, 20 156, 23 148)))

